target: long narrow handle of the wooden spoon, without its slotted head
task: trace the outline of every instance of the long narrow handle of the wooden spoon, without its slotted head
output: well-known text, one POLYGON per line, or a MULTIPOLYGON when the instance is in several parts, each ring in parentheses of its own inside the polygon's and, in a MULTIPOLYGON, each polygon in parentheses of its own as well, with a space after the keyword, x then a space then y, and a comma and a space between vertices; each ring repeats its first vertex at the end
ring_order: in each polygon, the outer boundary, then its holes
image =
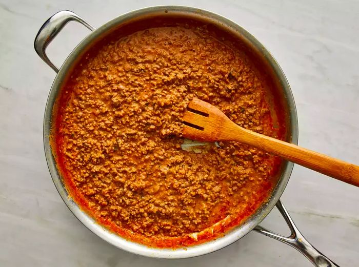
POLYGON ((235 141, 263 149, 314 171, 359 187, 359 166, 238 126, 235 132, 238 134, 234 138, 235 141))

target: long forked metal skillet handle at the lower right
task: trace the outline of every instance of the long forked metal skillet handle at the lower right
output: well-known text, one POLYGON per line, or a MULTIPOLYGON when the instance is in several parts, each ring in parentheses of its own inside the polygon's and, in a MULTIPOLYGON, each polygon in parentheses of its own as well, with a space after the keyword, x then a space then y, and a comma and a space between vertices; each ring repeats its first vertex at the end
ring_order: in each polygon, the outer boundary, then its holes
POLYGON ((278 200, 276 203, 277 209, 281 212, 283 218, 286 220, 291 235, 289 237, 281 236, 279 234, 276 234, 274 232, 271 232, 260 225, 257 225, 253 230, 264 234, 266 236, 272 237, 276 240, 282 241, 283 243, 286 243, 296 249, 297 251, 301 252, 304 256, 306 256, 315 266, 317 267, 332 267, 337 266, 333 261, 331 261, 329 258, 324 256, 321 252, 319 252, 317 249, 315 249, 299 232, 299 230, 296 228, 292 218, 289 216, 289 213, 287 212, 286 208, 284 207, 281 200, 278 200))

